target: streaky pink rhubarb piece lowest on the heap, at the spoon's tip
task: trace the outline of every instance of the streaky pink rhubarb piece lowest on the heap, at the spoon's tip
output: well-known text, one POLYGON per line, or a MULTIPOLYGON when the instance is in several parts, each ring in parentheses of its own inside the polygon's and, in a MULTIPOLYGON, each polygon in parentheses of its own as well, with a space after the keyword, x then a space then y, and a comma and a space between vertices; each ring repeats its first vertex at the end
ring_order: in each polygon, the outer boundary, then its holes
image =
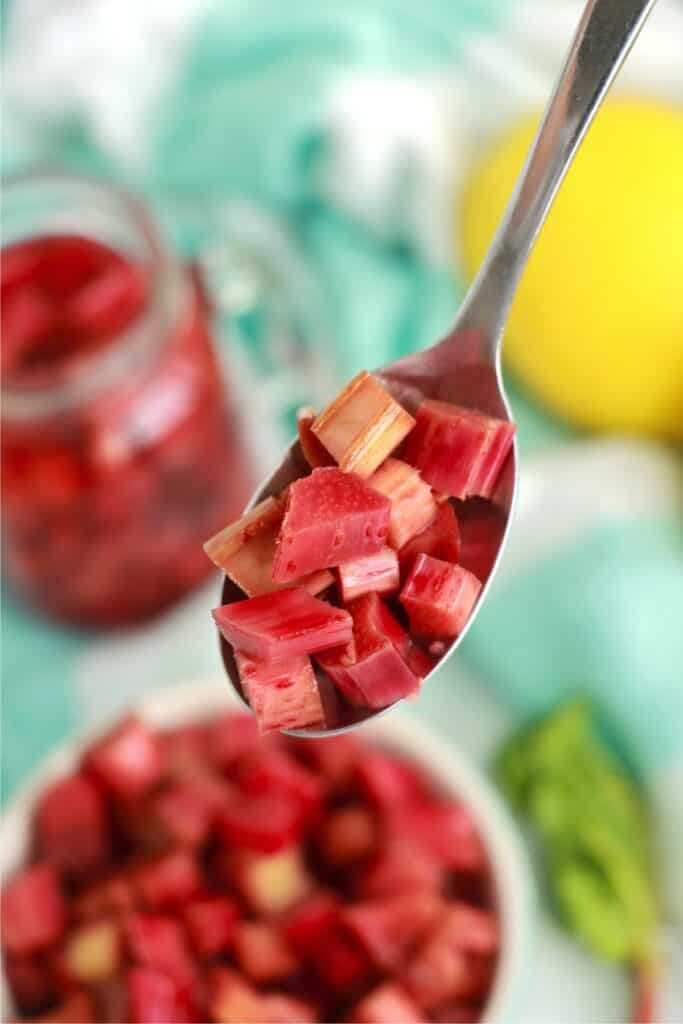
POLYGON ((260 662, 236 650, 234 659, 260 733, 325 724, 317 680, 306 654, 286 662, 260 662))

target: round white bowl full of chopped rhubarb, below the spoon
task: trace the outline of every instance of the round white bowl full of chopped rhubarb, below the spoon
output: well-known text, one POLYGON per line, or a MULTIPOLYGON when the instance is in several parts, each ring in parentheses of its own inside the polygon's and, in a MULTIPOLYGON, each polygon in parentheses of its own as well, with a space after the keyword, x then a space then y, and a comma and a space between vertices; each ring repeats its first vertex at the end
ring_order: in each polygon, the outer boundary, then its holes
POLYGON ((54 754, 1 837, 5 1020, 504 1020, 525 972, 514 826, 405 716, 263 738, 195 682, 54 754))

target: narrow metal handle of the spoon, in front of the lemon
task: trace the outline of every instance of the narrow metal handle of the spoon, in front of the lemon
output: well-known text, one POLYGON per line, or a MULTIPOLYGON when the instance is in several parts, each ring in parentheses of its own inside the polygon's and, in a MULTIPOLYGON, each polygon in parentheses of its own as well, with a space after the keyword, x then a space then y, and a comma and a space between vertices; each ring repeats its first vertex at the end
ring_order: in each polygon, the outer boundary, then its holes
POLYGON ((588 0, 515 190, 460 309, 500 358, 503 327, 531 247, 564 175, 654 0, 588 0))

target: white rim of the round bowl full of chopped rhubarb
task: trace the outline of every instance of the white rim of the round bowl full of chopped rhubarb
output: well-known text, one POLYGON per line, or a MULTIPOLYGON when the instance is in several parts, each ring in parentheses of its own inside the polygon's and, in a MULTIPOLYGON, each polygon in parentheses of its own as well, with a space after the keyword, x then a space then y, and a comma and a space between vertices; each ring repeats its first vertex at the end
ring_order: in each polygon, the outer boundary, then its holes
MULTIPOLYGON (((238 705, 224 681, 200 680, 155 693, 137 703, 134 710, 153 725, 172 727, 238 707, 242 706, 238 705)), ((68 743, 46 758, 10 801, 0 822, 3 879, 18 867, 27 855, 37 797, 46 785, 74 769, 82 750, 95 734, 68 743)), ((419 762, 440 788, 462 800, 474 816, 488 853, 502 927, 498 970, 483 1020, 510 1021, 517 1017, 515 1008, 529 973, 533 901, 529 866, 515 825, 481 772, 413 718, 392 715, 376 719, 364 726, 362 736, 419 762)), ((2 1004, 7 1015, 11 1008, 6 998, 4 978, 2 987, 2 1004)), ((3 1016, 2 1019, 8 1018, 3 1016)))

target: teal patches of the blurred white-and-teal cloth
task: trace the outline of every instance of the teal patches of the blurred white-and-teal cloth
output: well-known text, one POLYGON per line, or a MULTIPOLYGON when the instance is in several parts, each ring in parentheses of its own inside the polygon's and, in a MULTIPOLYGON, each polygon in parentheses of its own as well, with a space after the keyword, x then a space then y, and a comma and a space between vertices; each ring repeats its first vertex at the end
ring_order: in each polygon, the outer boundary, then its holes
MULTIPOLYGON (((399 195, 381 237, 330 202, 329 89, 354 69, 420 74, 455 66, 471 34, 495 31, 510 9, 510 0, 217 2, 151 112, 135 166, 101 153, 73 119, 33 136, 25 126, 20 140, 7 140, 3 165, 49 159, 132 185, 190 254, 211 234, 217 205, 248 197, 297 240, 334 328, 326 354, 343 381, 438 337, 463 283, 425 259, 399 195)), ((510 391, 523 472, 526 460, 571 433, 514 384, 510 391)), ((295 400, 284 403, 290 416, 295 400)), ((588 530, 494 591, 464 656, 522 716, 588 689, 635 756, 655 764, 680 749, 683 735, 682 564, 675 526, 637 521, 588 530)), ((11 601, 4 618, 6 793, 77 726, 70 687, 90 641, 11 601)))

